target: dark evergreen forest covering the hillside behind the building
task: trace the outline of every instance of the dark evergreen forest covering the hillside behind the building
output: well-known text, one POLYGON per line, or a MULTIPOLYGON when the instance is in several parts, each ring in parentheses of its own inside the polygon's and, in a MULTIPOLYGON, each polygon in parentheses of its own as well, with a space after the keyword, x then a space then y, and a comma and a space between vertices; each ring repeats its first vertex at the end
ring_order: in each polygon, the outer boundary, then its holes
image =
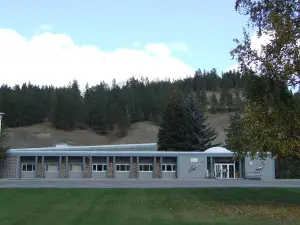
MULTIPOLYGON (((110 86, 104 82, 99 82, 93 87, 87 84, 83 93, 76 80, 60 88, 39 87, 30 83, 14 87, 2 85, 0 111, 5 112, 3 121, 10 128, 9 131, 12 133, 18 131, 13 134, 15 139, 12 143, 17 147, 28 145, 25 139, 29 139, 26 134, 29 132, 29 128, 26 127, 29 126, 31 133, 38 132, 37 127, 49 129, 52 126, 51 129, 56 130, 56 136, 62 137, 66 133, 64 131, 81 132, 78 137, 88 135, 90 138, 94 135, 92 139, 85 138, 86 141, 82 144, 95 144, 97 136, 92 133, 98 133, 102 135, 101 138, 105 136, 105 141, 101 143, 108 144, 116 141, 116 138, 124 139, 128 131, 132 131, 131 125, 137 122, 144 122, 143 124, 148 124, 148 128, 152 126, 149 129, 154 130, 153 126, 161 122, 164 107, 173 88, 178 89, 182 97, 190 91, 195 91, 207 115, 218 120, 218 117, 224 117, 217 114, 226 114, 236 108, 243 108, 241 93, 245 82, 246 78, 238 72, 217 74, 216 70, 212 69, 198 70, 193 77, 183 80, 149 81, 147 78, 140 80, 130 78, 121 87, 117 85, 116 80, 113 80, 110 86), (211 116, 212 114, 216 116, 211 116), (47 126, 38 125, 41 123, 46 123, 47 126), (21 141, 24 142, 21 145, 15 143, 21 141)), ((214 123, 213 120, 210 122, 214 123)), ((216 130, 222 130, 223 125, 224 123, 220 125, 221 127, 216 125, 216 130)), ((56 141, 66 139, 68 138, 58 138, 56 141)))

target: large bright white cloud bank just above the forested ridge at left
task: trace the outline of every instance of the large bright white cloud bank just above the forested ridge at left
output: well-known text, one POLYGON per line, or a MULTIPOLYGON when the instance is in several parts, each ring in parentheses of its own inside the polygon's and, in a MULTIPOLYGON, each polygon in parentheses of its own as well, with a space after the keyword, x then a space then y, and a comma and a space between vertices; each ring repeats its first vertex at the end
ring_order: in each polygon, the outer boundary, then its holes
POLYGON ((0 29, 0 84, 67 85, 77 79, 81 86, 100 81, 117 82, 131 76, 164 79, 193 75, 194 68, 172 56, 164 44, 148 44, 140 50, 118 48, 103 51, 76 45, 70 36, 44 32, 25 39, 13 30, 0 29))

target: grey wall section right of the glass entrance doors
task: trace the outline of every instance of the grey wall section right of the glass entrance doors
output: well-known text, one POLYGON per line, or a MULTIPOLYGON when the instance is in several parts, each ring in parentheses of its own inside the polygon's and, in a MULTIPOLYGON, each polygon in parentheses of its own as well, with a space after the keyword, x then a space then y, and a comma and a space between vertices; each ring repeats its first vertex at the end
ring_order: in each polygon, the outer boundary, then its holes
POLYGON ((265 164, 264 168, 261 170, 262 179, 275 179, 275 160, 272 158, 267 158, 262 161, 258 158, 251 159, 250 157, 245 158, 245 176, 251 176, 251 174, 260 172, 256 168, 265 164))

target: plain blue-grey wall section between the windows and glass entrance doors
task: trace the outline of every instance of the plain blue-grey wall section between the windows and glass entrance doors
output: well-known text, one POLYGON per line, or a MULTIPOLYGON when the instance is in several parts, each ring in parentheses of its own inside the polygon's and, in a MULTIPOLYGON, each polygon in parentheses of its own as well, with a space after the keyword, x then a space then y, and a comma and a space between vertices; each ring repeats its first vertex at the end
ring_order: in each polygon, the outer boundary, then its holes
POLYGON ((178 156, 177 178, 200 179, 205 178, 207 170, 207 157, 178 156), (192 168, 195 168, 192 170, 192 168))

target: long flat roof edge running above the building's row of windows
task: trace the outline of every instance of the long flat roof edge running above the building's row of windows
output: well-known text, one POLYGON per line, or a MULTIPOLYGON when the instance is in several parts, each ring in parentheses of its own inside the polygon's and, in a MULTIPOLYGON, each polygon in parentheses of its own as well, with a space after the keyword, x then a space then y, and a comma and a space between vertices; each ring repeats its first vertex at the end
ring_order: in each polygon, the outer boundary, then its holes
POLYGON ((233 157, 234 153, 206 153, 206 152, 163 152, 163 151, 10 151, 7 152, 7 156, 144 156, 144 157, 177 157, 177 156, 206 156, 206 157, 233 157))

